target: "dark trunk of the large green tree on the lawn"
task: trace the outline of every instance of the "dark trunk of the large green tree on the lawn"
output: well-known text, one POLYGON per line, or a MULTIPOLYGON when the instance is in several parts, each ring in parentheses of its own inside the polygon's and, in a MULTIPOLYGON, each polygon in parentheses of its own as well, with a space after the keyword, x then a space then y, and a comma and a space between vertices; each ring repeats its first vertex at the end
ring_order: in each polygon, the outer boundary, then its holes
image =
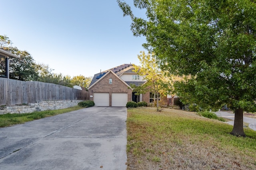
POLYGON ((230 134, 235 136, 245 137, 243 113, 244 113, 244 109, 241 109, 241 108, 235 109, 234 127, 230 134))

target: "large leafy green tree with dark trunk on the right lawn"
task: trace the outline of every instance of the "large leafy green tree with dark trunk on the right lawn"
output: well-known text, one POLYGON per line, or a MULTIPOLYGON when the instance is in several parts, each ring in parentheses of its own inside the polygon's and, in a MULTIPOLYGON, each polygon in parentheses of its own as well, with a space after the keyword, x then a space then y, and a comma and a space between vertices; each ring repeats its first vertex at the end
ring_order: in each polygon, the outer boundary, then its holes
POLYGON ((178 94, 205 106, 230 104, 235 112, 233 135, 245 136, 243 112, 256 111, 256 4, 251 0, 134 0, 146 9, 132 18, 135 36, 154 51, 162 69, 191 75, 178 94))

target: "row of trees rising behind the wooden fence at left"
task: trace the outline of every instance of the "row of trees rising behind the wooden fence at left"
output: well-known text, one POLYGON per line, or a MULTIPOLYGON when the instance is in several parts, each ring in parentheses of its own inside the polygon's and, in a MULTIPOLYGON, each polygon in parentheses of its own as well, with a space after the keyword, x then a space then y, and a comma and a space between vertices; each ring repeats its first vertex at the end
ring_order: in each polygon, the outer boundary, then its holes
MULTIPOLYGON (((83 75, 71 78, 68 75, 53 73, 47 64, 38 64, 28 51, 12 47, 12 41, 6 35, 0 35, 0 48, 18 55, 19 59, 10 60, 10 78, 21 81, 39 81, 73 87, 78 85, 88 88, 92 77, 83 75)), ((0 75, 5 74, 5 59, 0 58, 0 75)))

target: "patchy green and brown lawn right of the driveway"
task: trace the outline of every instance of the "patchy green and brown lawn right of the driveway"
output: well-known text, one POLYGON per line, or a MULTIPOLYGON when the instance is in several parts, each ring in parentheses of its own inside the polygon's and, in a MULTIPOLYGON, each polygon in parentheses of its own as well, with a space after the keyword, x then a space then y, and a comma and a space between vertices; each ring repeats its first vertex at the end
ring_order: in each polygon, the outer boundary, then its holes
POLYGON ((193 112, 128 109, 128 170, 256 169, 256 132, 239 138, 231 131, 193 112))

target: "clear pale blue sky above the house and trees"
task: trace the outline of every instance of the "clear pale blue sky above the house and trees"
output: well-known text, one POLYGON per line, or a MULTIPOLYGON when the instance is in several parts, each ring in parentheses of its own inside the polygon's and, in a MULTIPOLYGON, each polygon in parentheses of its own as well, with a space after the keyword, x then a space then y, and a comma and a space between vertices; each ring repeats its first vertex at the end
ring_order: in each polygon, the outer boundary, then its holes
MULTIPOLYGON (((132 4, 132 0, 126 0, 132 4)), ((0 0, 0 35, 28 51, 55 73, 93 76, 134 63, 144 37, 134 37, 131 20, 116 0, 0 0)), ((140 10, 136 16, 144 16, 140 10)))

